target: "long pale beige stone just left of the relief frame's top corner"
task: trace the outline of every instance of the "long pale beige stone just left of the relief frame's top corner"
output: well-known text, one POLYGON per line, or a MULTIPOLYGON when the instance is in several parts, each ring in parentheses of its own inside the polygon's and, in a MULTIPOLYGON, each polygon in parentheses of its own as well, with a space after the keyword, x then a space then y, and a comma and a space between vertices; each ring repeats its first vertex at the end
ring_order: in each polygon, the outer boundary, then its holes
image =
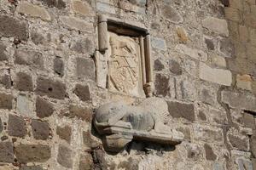
POLYGON ((85 22, 84 20, 79 20, 78 18, 68 16, 61 16, 60 20, 64 25, 68 26, 70 29, 85 32, 93 31, 92 23, 85 22))

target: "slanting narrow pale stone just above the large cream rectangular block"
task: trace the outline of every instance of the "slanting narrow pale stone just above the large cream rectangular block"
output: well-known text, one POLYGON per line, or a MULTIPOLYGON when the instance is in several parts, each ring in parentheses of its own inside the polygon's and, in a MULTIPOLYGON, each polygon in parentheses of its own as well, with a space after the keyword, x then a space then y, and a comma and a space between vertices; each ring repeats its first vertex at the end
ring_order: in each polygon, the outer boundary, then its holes
POLYGON ((184 44, 178 44, 176 46, 176 50, 181 54, 191 57, 192 59, 207 61, 207 53, 201 49, 189 48, 184 44))

